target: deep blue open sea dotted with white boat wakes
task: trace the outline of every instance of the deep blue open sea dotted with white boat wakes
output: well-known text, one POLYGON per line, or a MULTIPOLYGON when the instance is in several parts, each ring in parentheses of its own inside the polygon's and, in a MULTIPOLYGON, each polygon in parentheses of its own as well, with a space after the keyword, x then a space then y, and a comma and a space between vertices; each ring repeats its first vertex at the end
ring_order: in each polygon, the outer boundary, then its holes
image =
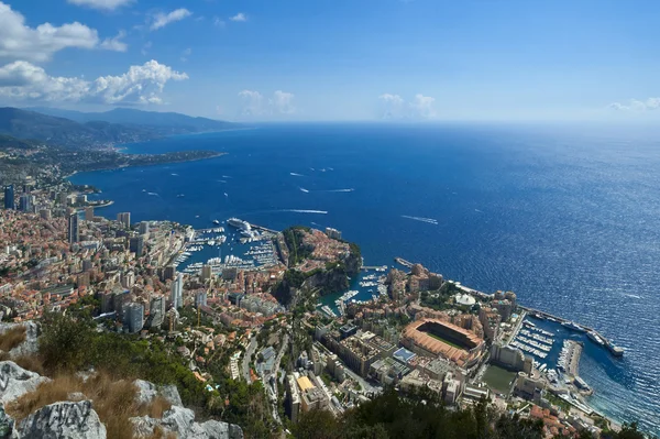
POLYGON ((133 221, 334 227, 369 265, 402 256, 596 328, 591 404, 660 433, 660 139, 640 130, 275 124, 132 144, 207 161, 78 174, 133 221), (180 196, 183 195, 183 196, 180 196), (178 196, 178 197, 177 197, 178 196))

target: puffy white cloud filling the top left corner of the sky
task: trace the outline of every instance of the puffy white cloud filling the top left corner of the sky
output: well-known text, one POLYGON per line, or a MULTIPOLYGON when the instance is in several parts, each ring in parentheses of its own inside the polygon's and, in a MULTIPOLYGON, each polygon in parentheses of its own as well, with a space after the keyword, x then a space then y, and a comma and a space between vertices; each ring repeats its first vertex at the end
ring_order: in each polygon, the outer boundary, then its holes
POLYGON ((54 26, 43 23, 30 28, 21 13, 0 1, 0 59, 45 62, 64 48, 95 48, 98 44, 97 31, 85 24, 74 22, 54 26))

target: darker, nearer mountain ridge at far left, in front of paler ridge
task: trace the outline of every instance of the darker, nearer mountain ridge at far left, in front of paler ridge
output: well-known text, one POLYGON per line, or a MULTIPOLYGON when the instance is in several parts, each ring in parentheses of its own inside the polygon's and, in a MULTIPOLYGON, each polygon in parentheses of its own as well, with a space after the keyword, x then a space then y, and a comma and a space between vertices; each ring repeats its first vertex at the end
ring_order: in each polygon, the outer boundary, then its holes
POLYGON ((99 147, 160 136, 153 130, 139 125, 127 127, 109 122, 78 123, 69 119, 11 107, 0 108, 0 134, 74 147, 99 147))

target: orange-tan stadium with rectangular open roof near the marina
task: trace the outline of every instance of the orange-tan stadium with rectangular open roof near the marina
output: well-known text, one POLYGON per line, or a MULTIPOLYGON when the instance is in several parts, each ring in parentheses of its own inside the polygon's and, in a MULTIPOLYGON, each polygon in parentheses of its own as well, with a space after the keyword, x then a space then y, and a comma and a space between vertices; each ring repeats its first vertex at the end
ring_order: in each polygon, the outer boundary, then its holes
POLYGON ((402 343, 420 355, 442 356, 465 369, 476 364, 485 345, 474 332, 438 319, 421 319, 408 325, 402 343))

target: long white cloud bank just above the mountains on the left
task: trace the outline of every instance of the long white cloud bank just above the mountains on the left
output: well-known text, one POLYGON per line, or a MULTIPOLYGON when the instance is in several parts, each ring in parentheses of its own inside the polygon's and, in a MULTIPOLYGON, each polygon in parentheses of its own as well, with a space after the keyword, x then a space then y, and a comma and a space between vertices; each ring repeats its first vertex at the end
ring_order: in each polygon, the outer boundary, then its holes
POLYGON ((101 76, 94 81, 53 77, 42 67, 18 61, 0 67, 0 96, 13 100, 162 103, 165 85, 169 80, 184 79, 188 79, 188 75, 153 59, 141 66, 131 66, 123 75, 101 76))

